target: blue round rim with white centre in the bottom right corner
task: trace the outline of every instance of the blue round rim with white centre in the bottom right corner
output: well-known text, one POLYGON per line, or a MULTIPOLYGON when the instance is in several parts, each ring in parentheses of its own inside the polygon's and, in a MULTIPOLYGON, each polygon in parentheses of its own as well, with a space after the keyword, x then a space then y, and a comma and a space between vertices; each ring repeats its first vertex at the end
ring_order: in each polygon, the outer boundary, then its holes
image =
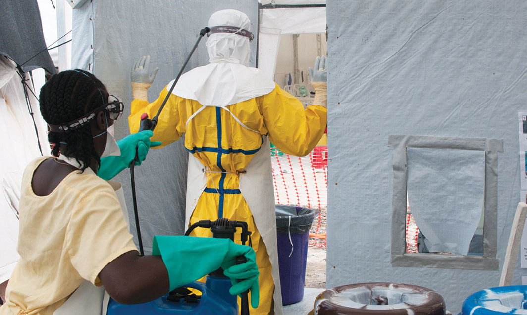
POLYGON ((527 286, 477 291, 463 302, 459 315, 527 314, 527 286))

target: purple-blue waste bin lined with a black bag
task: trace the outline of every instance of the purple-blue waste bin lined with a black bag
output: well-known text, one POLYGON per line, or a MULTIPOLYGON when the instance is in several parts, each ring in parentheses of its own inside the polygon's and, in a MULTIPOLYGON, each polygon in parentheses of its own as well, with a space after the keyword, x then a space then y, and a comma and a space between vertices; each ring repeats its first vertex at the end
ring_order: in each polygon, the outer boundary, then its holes
POLYGON ((307 243, 315 210, 295 205, 276 205, 278 267, 282 304, 304 298, 307 243))

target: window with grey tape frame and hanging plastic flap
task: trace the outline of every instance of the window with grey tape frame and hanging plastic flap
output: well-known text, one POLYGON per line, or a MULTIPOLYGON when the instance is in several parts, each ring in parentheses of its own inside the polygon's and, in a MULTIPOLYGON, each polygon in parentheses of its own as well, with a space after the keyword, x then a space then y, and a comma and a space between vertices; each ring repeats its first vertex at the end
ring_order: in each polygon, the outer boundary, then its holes
POLYGON ((392 265, 497 270, 503 140, 390 135, 388 145, 394 148, 392 265))

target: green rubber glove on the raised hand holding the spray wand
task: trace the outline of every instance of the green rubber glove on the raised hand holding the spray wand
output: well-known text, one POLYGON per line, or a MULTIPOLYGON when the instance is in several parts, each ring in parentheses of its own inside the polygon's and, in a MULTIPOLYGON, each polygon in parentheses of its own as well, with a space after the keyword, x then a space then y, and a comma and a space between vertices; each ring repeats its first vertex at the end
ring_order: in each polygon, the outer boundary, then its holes
POLYGON ((128 168, 130 163, 135 159, 135 148, 139 157, 139 162, 135 165, 141 165, 141 162, 147 158, 148 149, 152 146, 161 145, 160 141, 150 141, 154 133, 151 130, 144 130, 138 133, 132 133, 117 141, 121 155, 110 155, 101 159, 97 176, 103 180, 109 181, 122 170, 128 168))

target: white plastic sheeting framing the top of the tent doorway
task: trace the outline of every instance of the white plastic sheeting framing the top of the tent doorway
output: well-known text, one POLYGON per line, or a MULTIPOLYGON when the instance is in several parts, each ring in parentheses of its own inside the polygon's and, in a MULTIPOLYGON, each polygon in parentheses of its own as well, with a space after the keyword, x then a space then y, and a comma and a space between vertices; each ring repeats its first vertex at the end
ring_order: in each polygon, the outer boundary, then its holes
POLYGON ((271 78, 281 34, 326 33, 325 7, 261 9, 260 16, 258 68, 271 78))

